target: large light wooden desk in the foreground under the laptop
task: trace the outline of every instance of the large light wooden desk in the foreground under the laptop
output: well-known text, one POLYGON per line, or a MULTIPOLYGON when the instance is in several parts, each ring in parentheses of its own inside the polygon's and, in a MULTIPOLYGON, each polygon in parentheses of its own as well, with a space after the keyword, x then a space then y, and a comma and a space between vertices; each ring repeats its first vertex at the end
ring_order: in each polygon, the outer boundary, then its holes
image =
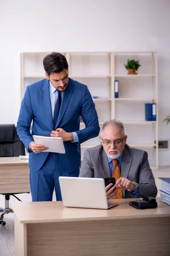
POLYGON ((169 256, 170 207, 157 198, 158 208, 137 210, 129 201, 108 210, 12 202, 15 256, 169 256))

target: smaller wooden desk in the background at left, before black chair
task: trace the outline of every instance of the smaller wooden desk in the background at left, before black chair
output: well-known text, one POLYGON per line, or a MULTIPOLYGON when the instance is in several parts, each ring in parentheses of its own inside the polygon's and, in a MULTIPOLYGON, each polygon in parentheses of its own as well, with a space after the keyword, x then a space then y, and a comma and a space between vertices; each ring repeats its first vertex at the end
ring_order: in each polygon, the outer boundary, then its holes
POLYGON ((0 194, 30 192, 28 160, 0 157, 0 194))

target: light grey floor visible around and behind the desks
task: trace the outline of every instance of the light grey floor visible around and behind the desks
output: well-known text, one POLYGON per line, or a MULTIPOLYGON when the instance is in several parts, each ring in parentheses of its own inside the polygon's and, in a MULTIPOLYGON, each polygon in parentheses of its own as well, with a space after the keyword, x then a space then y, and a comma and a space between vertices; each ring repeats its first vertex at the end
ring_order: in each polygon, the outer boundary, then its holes
MULTIPOLYGON (((153 175, 156 180, 156 186, 161 188, 161 180, 158 177, 170 177, 170 166, 160 168, 158 170, 153 170, 153 175)), ((18 194, 17 195, 23 202, 31 202, 31 194, 18 194)), ((10 198, 11 201, 17 201, 16 198, 10 198)), ((53 201, 55 201, 55 194, 53 196, 53 201)), ((4 198, 0 195, 0 208, 4 205, 4 198)), ((6 221, 6 226, 0 226, 0 256, 14 256, 14 214, 9 213, 5 215, 4 220, 6 221)))

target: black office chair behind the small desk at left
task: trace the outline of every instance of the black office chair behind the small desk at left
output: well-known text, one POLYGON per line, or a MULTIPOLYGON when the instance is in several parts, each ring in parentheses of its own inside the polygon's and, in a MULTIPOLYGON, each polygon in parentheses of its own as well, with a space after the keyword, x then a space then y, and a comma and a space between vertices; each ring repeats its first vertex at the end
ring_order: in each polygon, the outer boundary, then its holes
MULTIPOLYGON (((15 125, 0 125, 0 157, 19 157, 19 155, 26 155, 26 152, 24 144, 17 135, 15 125)), ((0 209, 0 212, 2 212, 0 215, 0 224, 5 226, 6 222, 3 221, 4 215, 13 212, 13 210, 9 208, 10 195, 13 195, 15 198, 17 197, 12 193, 2 195, 4 195, 5 198, 5 207, 0 209)), ((21 201, 19 198, 17 199, 21 201)))

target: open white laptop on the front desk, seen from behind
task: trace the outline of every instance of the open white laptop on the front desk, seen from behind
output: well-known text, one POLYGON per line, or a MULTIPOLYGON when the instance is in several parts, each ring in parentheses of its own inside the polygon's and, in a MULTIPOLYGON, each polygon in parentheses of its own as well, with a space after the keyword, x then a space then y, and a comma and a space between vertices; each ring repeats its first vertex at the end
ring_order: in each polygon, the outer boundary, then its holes
POLYGON ((109 209, 104 179, 59 177, 62 203, 65 207, 109 209))

